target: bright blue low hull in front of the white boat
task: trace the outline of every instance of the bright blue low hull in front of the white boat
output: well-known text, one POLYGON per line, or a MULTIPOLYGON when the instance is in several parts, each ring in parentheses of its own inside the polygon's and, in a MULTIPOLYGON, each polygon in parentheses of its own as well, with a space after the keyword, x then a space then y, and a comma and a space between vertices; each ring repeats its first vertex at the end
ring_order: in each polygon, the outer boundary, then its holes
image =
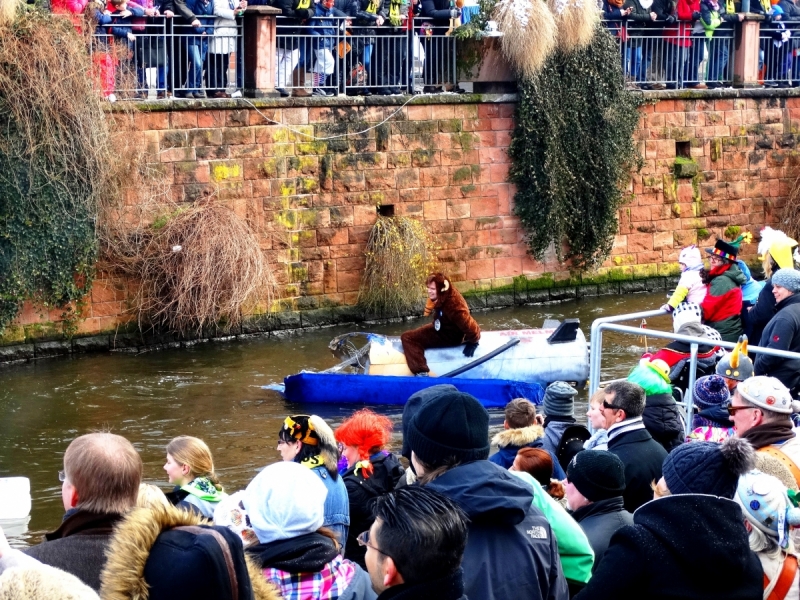
POLYGON ((412 394, 443 383, 475 396, 487 408, 502 408, 514 398, 527 398, 534 404, 541 404, 544 397, 540 385, 521 381, 332 373, 291 375, 284 379, 281 393, 290 402, 403 405, 412 394))

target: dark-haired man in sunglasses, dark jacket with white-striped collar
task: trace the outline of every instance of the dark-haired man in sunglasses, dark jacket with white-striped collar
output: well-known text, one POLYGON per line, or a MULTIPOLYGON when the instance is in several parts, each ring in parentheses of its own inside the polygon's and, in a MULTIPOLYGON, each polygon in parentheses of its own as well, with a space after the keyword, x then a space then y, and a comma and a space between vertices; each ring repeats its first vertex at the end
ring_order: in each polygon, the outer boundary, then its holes
POLYGON ((645 395, 630 381, 614 381, 605 388, 601 412, 608 423, 608 451, 625 465, 625 510, 633 513, 653 499, 650 484, 661 479, 664 447, 653 439, 642 421, 645 395))

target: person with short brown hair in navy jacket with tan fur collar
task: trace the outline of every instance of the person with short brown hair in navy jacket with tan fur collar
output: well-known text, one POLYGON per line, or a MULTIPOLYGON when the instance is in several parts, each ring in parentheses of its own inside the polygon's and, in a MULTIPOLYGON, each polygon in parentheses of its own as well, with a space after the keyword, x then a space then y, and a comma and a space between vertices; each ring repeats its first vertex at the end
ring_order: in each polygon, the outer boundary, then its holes
MULTIPOLYGON (((503 431, 492 438, 492 444, 497 445, 497 453, 490 456, 489 460, 508 469, 520 448, 542 448, 543 438, 542 417, 536 414, 533 402, 525 398, 512 400, 506 404, 503 431)), ((550 458, 554 471, 551 477, 564 479, 566 474, 555 455, 550 453, 550 458)))

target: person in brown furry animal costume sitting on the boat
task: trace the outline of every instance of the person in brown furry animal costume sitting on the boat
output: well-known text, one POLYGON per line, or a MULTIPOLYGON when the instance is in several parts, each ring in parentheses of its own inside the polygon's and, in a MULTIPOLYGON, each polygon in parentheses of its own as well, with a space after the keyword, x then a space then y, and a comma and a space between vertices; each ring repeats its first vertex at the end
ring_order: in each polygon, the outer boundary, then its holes
POLYGON ((481 328, 469 314, 464 296, 442 273, 434 273, 425 281, 428 303, 424 316, 433 315, 433 323, 406 331, 400 336, 408 368, 418 376, 428 375, 426 348, 464 346, 464 356, 472 357, 481 339, 481 328))

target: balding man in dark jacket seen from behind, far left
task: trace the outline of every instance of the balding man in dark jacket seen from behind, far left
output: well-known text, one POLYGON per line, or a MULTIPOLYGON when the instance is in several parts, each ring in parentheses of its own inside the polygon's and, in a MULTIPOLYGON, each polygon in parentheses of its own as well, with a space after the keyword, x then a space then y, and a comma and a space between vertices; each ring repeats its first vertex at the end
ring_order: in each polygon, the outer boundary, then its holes
POLYGON ((142 459, 124 437, 90 433, 67 447, 59 479, 64 520, 25 553, 99 591, 112 530, 136 504, 142 459))

